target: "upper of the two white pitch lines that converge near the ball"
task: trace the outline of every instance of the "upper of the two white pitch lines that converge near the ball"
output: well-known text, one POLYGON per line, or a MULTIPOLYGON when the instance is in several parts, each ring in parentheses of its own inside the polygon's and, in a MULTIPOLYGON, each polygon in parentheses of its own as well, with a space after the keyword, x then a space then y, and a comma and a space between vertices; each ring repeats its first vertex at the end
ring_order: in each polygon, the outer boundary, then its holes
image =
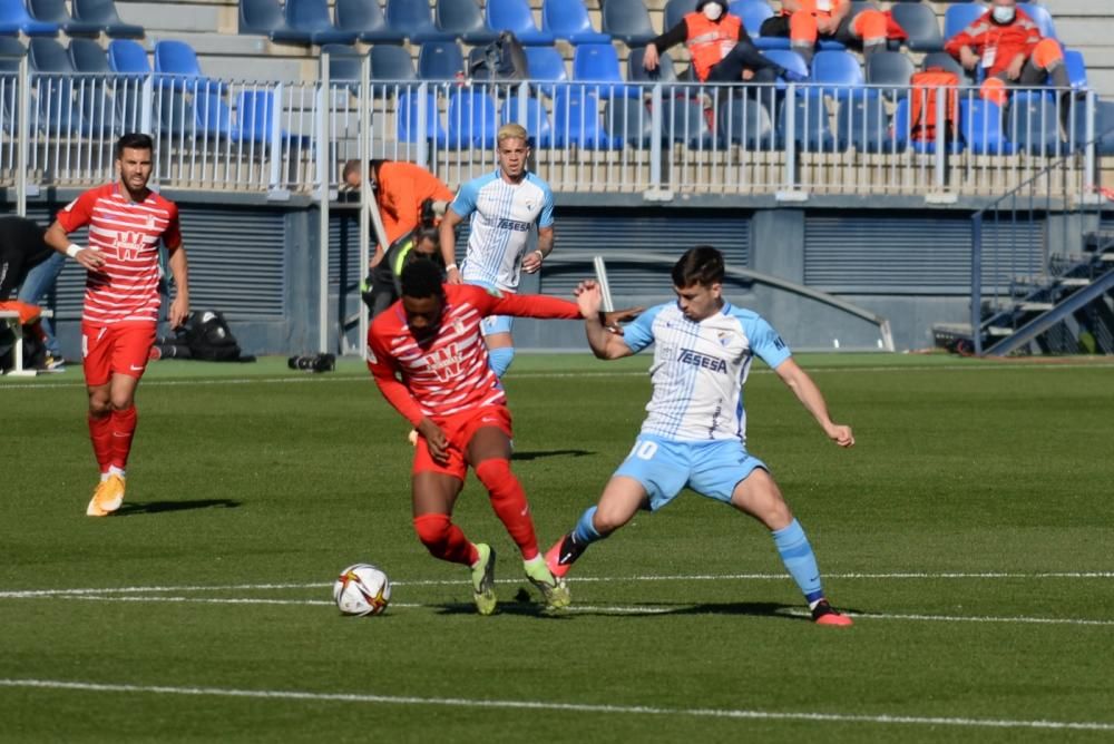
MULTIPOLYGON (((944 571, 944 572, 889 572, 889 574, 824 574, 829 580, 989 580, 989 579, 1114 579, 1114 571, 944 571)), ((676 576, 576 576, 571 584, 612 584, 623 581, 788 581, 785 574, 694 574, 676 576)), ((519 579, 497 579, 497 584, 520 584, 519 579)), ((462 579, 413 579, 392 581, 392 586, 457 586, 467 584, 462 579)), ((321 589, 331 587, 331 581, 304 584, 223 584, 194 586, 134 586, 134 587, 89 587, 74 589, 11 589, 0 591, 0 599, 26 599, 31 597, 55 597, 77 595, 158 594, 172 591, 271 591, 276 589, 321 589)))

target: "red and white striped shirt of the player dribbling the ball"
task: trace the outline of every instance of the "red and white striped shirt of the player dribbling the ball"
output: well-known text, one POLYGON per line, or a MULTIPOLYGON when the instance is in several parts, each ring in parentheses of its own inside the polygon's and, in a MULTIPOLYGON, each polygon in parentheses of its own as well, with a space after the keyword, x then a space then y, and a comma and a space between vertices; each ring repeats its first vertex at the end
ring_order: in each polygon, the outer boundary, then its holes
POLYGON ((368 330, 368 369, 388 402, 414 425, 423 417, 444 419, 507 402, 480 333, 488 315, 580 317, 575 303, 544 295, 501 294, 470 284, 446 284, 444 295, 441 324, 431 339, 414 339, 401 301, 368 330))

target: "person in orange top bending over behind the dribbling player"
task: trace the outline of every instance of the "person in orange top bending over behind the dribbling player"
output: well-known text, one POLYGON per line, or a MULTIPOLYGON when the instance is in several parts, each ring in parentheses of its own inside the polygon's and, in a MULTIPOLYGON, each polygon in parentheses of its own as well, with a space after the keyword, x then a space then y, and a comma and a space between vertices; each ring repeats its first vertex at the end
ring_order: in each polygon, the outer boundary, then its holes
MULTIPOLYGON (((421 205, 426 199, 432 199, 433 211, 442 215, 452 200, 452 192, 437 176, 413 163, 377 159, 368 165, 371 188, 375 192, 375 203, 387 231, 387 245, 377 246, 375 256, 371 260, 371 265, 375 266, 382 261, 388 246, 418 227, 421 205)), ((344 164, 343 178, 352 188, 360 188, 363 182, 360 160, 344 164)))

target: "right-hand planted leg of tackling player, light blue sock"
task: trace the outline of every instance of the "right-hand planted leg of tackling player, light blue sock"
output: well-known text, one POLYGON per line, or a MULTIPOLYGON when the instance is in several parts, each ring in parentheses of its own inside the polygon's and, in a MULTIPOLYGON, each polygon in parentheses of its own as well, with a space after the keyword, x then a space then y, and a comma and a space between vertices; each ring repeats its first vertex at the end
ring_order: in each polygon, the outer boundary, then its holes
POLYGON ((840 615, 828 603, 820 584, 820 568, 804 529, 797 521, 781 495, 781 489, 764 468, 755 468, 739 482, 731 495, 731 505, 766 526, 773 536, 778 554, 812 611, 819 625, 851 625, 851 618, 840 615))

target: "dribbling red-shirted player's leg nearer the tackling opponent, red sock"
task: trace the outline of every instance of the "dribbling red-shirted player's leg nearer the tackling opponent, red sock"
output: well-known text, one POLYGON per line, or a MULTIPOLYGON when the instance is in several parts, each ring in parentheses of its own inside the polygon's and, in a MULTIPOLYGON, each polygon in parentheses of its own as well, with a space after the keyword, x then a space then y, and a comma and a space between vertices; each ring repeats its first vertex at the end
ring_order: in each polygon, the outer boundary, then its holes
POLYGON ((541 591, 549 609, 567 607, 568 587, 554 577, 538 551, 538 539, 522 484, 510 470, 510 414, 505 408, 485 409, 468 443, 468 461, 483 483, 491 508, 522 555, 526 578, 541 591))

